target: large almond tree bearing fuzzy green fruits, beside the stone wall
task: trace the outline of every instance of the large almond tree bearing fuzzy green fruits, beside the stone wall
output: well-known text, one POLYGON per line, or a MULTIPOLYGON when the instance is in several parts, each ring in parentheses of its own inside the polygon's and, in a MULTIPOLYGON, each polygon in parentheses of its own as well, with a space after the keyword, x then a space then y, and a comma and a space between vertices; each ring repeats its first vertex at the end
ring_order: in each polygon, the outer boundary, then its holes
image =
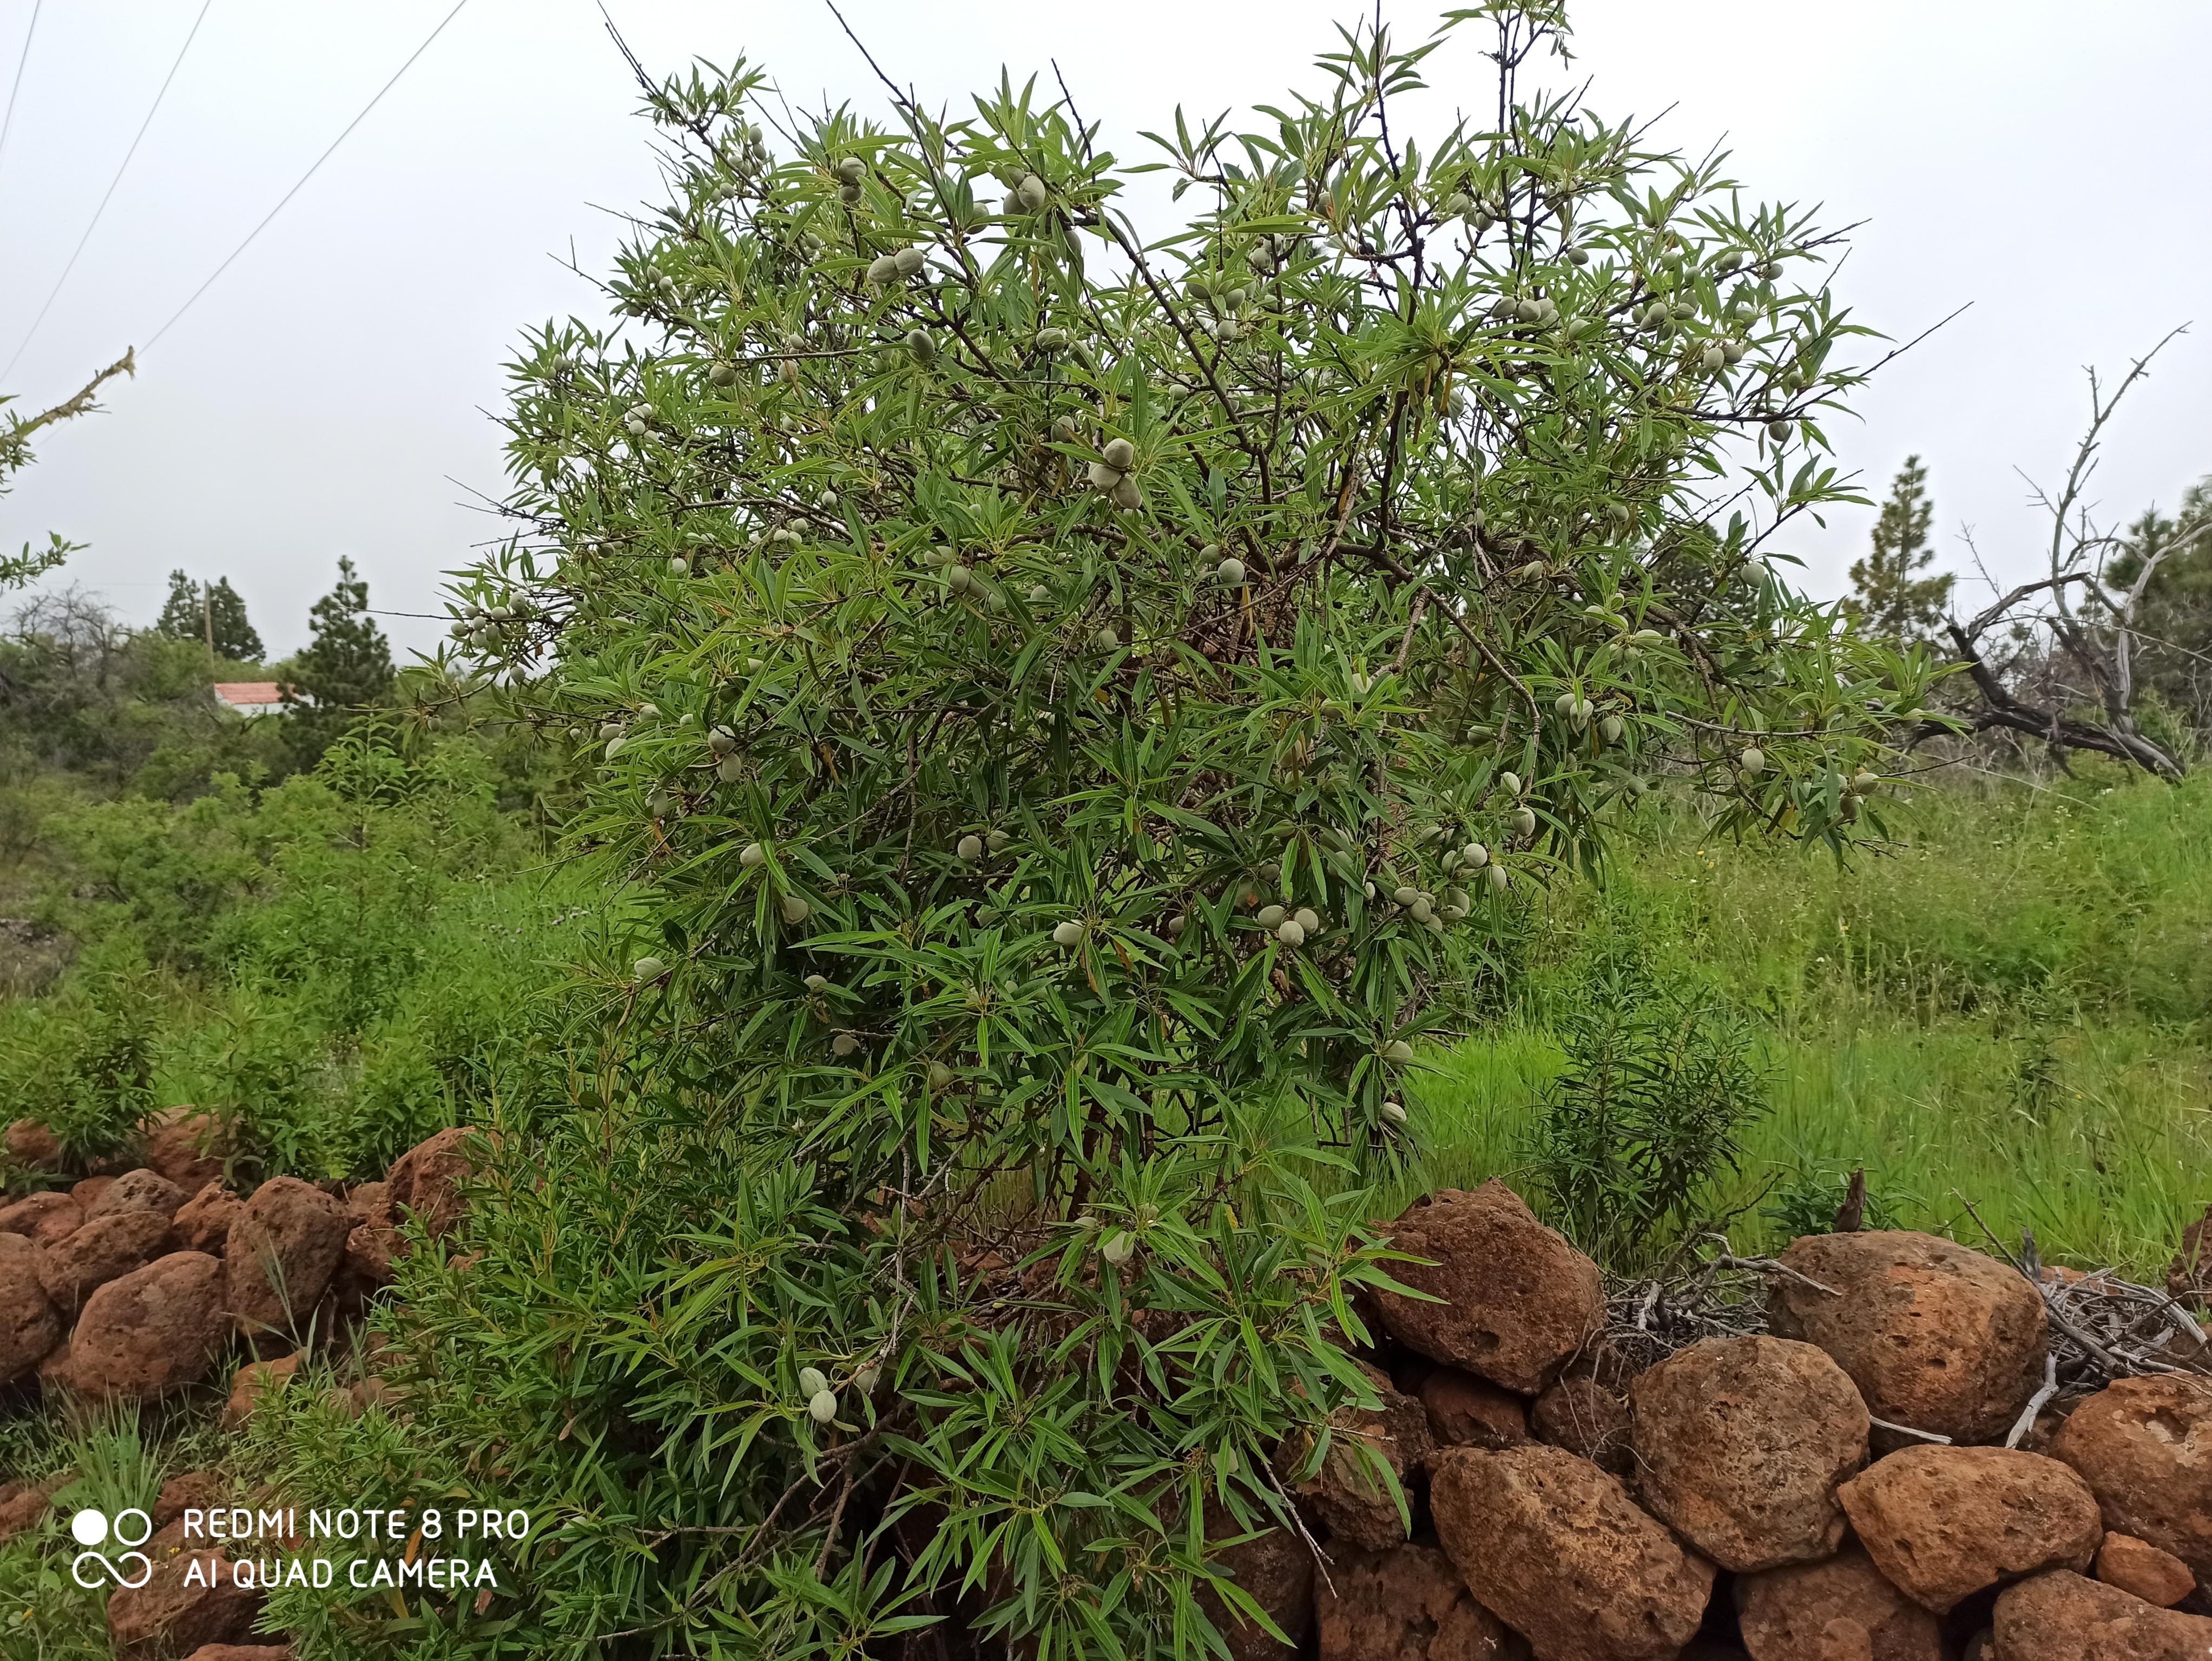
POLYGON ((1920 668, 1765 557, 1840 493, 1834 241, 1467 18, 1495 130, 1360 29, 1177 117, 1164 237, 1035 86, 781 155, 759 71, 646 88, 626 321, 529 341, 453 606, 628 947, 394 1314, 420 1469, 562 1519, 440 1654, 1197 1654, 1367 1393, 1356 1183, 1515 885, 1661 774, 1874 818, 1920 668))

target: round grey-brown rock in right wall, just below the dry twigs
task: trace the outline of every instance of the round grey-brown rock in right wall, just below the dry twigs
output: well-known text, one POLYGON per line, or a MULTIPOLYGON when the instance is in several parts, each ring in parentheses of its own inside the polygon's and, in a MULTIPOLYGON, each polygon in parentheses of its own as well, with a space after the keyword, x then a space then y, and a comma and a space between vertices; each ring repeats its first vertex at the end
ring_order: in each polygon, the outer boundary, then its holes
POLYGON ((1750 1575, 1843 1544, 1836 1488, 1867 1462, 1867 1404, 1825 1349, 1705 1338, 1628 1393, 1637 1493, 1714 1564, 1750 1575))

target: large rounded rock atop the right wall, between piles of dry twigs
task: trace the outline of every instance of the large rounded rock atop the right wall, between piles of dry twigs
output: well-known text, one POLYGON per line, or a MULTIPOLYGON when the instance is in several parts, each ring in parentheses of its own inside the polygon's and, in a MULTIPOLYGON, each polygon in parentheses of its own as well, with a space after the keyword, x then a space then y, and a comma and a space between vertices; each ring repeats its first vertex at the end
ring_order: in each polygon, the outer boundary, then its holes
POLYGON ((1840 1296, 1776 1276, 1767 1325, 1834 1356, 1874 1418, 1991 1442, 2042 1382, 2044 1300, 2006 1263, 1907 1230, 1805 1234, 1783 1263, 1840 1296))

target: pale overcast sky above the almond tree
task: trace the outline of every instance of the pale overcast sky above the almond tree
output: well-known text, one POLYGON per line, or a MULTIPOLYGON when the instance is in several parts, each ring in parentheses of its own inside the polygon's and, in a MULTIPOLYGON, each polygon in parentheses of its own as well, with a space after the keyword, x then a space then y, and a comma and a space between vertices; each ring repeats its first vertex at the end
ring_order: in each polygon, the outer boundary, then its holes
MULTIPOLYGON (((0 95, 31 0, 0 0, 0 95)), ((60 301, 0 389, 73 391, 144 347, 307 164, 422 44, 451 0, 212 0, 144 146, 60 301)), ((0 150, 0 363, 15 354, 168 73, 199 0, 44 0, 0 150)), ((608 0, 655 71, 750 55, 792 102, 883 111, 827 7, 608 0)), ((1057 58, 1126 157, 1135 133, 1316 86, 1345 4, 1115 0, 1037 7, 849 0, 896 75, 956 102, 998 66, 1057 58)), ((1389 4, 1407 33, 1436 11, 1389 4)), ((1971 310, 1882 372, 1843 458, 1880 495, 1927 458, 1940 549, 1975 529, 2000 575, 2046 529, 2015 469, 2053 478, 2084 365, 2124 367, 2177 323, 2112 429, 2097 495, 2172 504, 2212 471, 2212 4, 1938 0, 1747 4, 1584 0, 1590 106, 1657 115, 1677 148, 1723 144, 1756 197, 1865 221, 1838 279, 1858 316, 1907 338, 1971 310)), ((1484 64, 1440 58, 1438 104, 1480 108, 1484 64)), ((0 544, 60 529, 91 551, 66 579, 150 619, 166 573, 228 575, 272 652, 352 555, 387 610, 438 610, 440 573, 495 535, 500 363, 526 323, 591 310, 562 265, 602 270, 611 210, 657 199, 637 95, 588 0, 469 0, 389 97, 208 294, 0 500, 0 544)), ((1787 549, 1840 593, 1869 511, 1787 549)), ((49 579, 51 582, 51 579, 49 579)), ((385 617, 400 646, 436 624, 385 617)))

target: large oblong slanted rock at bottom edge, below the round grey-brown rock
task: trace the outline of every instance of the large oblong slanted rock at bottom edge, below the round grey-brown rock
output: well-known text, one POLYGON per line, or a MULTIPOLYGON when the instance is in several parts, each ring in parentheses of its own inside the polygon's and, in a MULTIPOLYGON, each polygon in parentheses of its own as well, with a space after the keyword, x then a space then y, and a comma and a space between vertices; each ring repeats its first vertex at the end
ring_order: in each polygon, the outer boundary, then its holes
POLYGON ((1694 1634, 1712 1564, 1564 1449, 1451 1449, 1429 1511, 1467 1588, 1542 1661, 1657 1661, 1694 1634))

